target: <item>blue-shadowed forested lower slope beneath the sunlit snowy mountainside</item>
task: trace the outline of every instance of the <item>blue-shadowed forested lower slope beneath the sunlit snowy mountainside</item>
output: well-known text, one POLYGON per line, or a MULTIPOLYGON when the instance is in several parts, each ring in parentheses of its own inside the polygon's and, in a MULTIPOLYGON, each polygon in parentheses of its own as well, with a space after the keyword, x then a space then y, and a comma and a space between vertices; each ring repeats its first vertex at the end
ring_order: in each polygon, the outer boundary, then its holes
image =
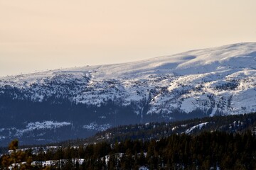
MULTIPOLYGON (((0 87, 0 91, 1 91, 0 87)), ((85 138, 117 125, 170 121, 168 115, 146 115, 134 112, 136 103, 120 106, 114 101, 98 106, 75 103, 65 96, 47 98, 41 102, 14 99, 16 89, 4 89, 0 93, 0 147, 18 139, 22 145, 41 145, 76 138, 85 138)), ((176 119, 201 118, 207 116, 198 111, 173 114, 176 119)))

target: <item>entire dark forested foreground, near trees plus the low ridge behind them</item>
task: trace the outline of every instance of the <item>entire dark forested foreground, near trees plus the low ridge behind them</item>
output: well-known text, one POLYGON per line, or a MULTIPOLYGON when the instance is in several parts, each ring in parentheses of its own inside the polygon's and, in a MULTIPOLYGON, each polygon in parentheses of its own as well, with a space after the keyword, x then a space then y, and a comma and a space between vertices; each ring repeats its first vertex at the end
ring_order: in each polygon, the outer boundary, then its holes
POLYGON ((255 127, 256 113, 119 126, 21 147, 1 156, 1 169, 14 159, 29 169, 256 169, 255 127))

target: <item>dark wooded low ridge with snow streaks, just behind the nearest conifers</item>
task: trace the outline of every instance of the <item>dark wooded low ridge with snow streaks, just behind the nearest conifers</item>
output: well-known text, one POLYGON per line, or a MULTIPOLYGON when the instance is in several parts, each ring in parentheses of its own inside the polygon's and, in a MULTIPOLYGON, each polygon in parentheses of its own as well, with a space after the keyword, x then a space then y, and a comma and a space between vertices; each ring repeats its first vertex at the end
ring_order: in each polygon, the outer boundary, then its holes
POLYGON ((242 133, 251 130, 256 134, 256 113, 245 115, 213 116, 182 120, 169 123, 144 123, 137 125, 123 125, 98 132, 95 136, 85 140, 70 140, 60 142, 59 145, 80 145, 93 142, 116 142, 124 140, 159 140, 174 134, 198 135, 201 132, 242 133))

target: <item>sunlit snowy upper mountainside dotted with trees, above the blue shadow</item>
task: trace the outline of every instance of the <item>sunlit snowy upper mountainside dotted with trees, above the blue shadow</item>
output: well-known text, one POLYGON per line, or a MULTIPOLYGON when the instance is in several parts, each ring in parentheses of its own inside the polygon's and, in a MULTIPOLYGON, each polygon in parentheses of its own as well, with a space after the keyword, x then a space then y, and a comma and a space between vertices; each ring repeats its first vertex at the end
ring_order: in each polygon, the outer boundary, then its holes
MULTIPOLYGON (((240 43, 124 64, 59 69, 2 77, 16 98, 50 96, 101 106, 114 101, 148 104, 147 113, 202 110, 224 114, 256 111, 256 43, 240 43)), ((137 113, 143 110, 141 104, 137 113)))

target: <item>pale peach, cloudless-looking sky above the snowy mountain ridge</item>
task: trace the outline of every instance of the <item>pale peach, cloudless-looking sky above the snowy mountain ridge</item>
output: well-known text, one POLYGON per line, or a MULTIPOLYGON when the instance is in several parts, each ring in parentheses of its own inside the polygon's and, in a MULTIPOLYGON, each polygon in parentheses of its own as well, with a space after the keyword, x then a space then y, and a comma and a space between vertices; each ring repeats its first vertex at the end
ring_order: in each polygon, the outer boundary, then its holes
POLYGON ((0 76, 256 41, 255 0, 0 0, 0 76))

